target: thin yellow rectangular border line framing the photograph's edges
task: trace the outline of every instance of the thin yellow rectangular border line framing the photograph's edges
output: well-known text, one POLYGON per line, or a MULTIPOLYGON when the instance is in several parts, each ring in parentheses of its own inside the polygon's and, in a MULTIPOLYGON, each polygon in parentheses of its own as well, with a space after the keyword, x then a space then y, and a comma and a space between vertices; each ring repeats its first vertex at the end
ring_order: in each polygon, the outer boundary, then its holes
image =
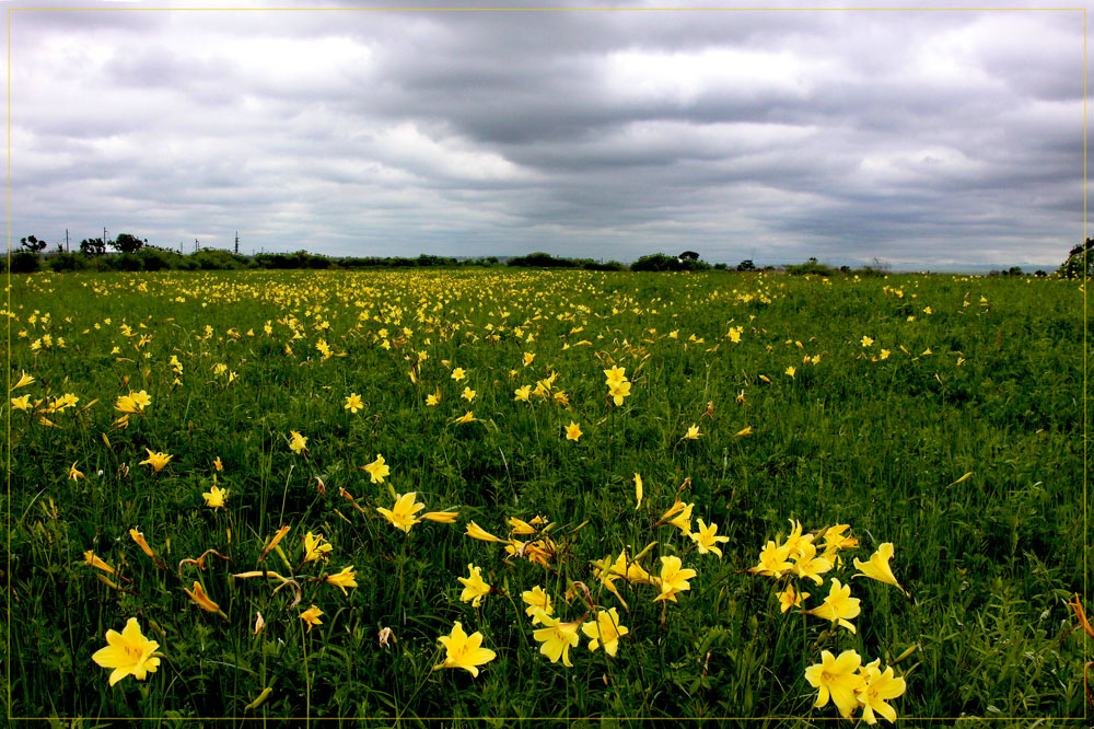
MULTIPOLYGON (((174 12, 209 12, 209 11, 263 11, 263 12, 443 12, 443 13, 456 13, 456 12, 852 12, 852 11, 865 11, 865 12, 1073 12, 1081 10, 1083 13, 1083 241, 1087 240, 1087 228, 1086 228, 1086 8, 1075 8, 1075 7, 1060 7, 1060 8, 9 8, 8 9, 8 288, 5 290, 7 297, 7 310, 10 313, 11 309, 11 14, 12 12, 20 11, 33 11, 33 12, 88 12, 88 11, 106 11, 106 12, 150 12, 150 11, 174 11, 174 12)), ((1087 289, 1090 288, 1090 276, 1089 276, 1089 261, 1090 261, 1090 248, 1084 247, 1083 252, 1083 533, 1090 534, 1089 528, 1089 509, 1087 509, 1087 482, 1090 481, 1090 438, 1089 438, 1089 415, 1090 415, 1090 403, 1089 403, 1089 386, 1087 386, 1087 351, 1089 351, 1089 340, 1087 333, 1090 331, 1090 308, 1087 305, 1087 289)), ((8 368, 5 372, 5 392, 11 392, 11 316, 5 316, 7 321, 7 340, 8 340, 8 368)), ((11 695, 11 408, 8 408, 5 417, 5 428, 7 428, 7 458, 4 460, 5 465, 5 481, 7 481, 7 500, 8 500, 8 512, 7 512, 7 525, 8 525, 8 555, 7 555, 7 572, 8 572, 8 598, 5 601, 7 608, 7 661, 5 661, 5 676, 7 676, 7 695, 8 695, 8 710, 7 718, 12 721, 14 718, 12 715, 12 695, 11 695)), ((1090 595, 1090 568, 1089 568, 1089 557, 1090 557, 1090 544, 1083 544, 1083 594, 1084 597, 1090 595)), ((1090 660, 1090 641, 1083 641, 1083 663, 1085 664, 1090 660)), ((57 720, 58 717, 18 717, 26 721, 51 721, 57 720)), ((60 720, 72 717, 59 717, 60 720)), ((136 719, 154 719, 158 717, 97 717, 98 719, 113 721, 131 721, 136 719)), ((159 717, 162 718, 162 717, 159 717)), ((237 721, 245 720, 255 717, 190 717, 197 721, 237 721)), ((265 717, 264 717, 265 718, 265 717)), ((309 721, 324 721, 324 720, 336 720, 342 721, 341 717, 275 717, 277 719, 283 720, 296 720, 305 718, 309 721)), ((457 720, 463 719, 465 721, 481 721, 481 720, 529 720, 535 721, 539 719, 544 720, 566 720, 573 721, 574 719, 584 719, 587 717, 567 717, 561 719, 560 717, 416 717, 421 720, 457 720)), ((735 716, 723 716, 723 717, 702 717, 702 718, 668 718, 660 719, 659 717, 613 717, 617 719, 625 720, 645 720, 651 719, 654 721, 665 720, 665 721, 724 721, 724 720, 748 720, 748 719, 777 719, 777 720, 801 720, 800 716, 767 716, 767 717, 735 717, 735 716)), ((965 719, 978 719, 988 721, 1014 721, 1014 720, 1027 720, 1032 717, 917 717, 917 716, 904 716, 899 717, 904 721, 959 721, 965 719)), ((1090 718, 1090 706, 1087 702, 1083 702, 1083 716, 1082 717, 1038 717, 1041 719, 1048 719, 1051 721, 1086 721, 1090 718)), ((387 719, 363 719, 358 718, 357 720, 369 722, 369 721, 387 721, 387 719)), ((811 721, 840 721, 839 717, 813 717, 811 721)))

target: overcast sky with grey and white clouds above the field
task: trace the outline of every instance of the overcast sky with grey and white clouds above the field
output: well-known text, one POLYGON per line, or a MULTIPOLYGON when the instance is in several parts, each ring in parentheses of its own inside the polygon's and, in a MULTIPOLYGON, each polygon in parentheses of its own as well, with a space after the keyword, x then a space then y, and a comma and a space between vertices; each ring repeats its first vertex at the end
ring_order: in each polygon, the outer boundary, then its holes
POLYGON ((935 265, 1082 241, 1079 10, 142 5, 10 12, 13 241, 935 265))

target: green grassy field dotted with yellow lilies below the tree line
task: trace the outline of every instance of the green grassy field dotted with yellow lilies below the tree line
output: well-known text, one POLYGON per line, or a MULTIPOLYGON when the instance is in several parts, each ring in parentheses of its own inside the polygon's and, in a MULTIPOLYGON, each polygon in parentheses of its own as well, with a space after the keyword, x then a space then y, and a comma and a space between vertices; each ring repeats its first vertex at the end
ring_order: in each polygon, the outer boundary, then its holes
POLYGON ((1080 726, 1087 710, 1094 640, 1068 604, 1090 587, 1075 281, 11 287, 13 716, 781 727, 885 724, 885 706, 911 726, 1080 726))

